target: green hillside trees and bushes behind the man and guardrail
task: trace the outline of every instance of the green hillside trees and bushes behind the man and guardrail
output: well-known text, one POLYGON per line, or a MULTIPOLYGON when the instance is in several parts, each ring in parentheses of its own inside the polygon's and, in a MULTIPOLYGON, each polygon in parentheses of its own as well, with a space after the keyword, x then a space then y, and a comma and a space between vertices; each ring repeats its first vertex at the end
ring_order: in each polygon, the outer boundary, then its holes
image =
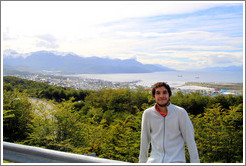
MULTIPOLYGON (((141 116, 154 104, 149 91, 84 91, 11 76, 3 81, 4 141, 138 162, 141 116)), ((243 162, 243 96, 179 92, 171 102, 187 110, 201 162, 243 162)))

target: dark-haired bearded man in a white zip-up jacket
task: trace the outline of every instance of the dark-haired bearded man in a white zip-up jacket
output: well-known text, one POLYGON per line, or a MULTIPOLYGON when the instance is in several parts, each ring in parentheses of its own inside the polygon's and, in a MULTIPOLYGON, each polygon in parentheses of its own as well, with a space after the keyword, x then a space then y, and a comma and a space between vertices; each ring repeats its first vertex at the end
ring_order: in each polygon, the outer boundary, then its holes
POLYGON ((158 82, 153 85, 152 96, 156 104, 142 115, 141 163, 185 163, 185 143, 190 162, 200 163, 193 125, 185 109, 170 103, 171 95, 168 84, 158 82))

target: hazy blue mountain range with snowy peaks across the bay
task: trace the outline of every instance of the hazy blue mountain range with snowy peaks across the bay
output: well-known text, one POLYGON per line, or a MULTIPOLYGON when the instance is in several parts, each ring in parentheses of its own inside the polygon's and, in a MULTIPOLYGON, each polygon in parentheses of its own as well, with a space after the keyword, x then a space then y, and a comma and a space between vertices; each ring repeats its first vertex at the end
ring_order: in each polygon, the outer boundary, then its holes
POLYGON ((110 59, 99 57, 81 57, 74 53, 55 51, 37 51, 27 56, 18 56, 14 50, 3 55, 4 70, 27 72, 52 71, 63 74, 109 74, 109 73, 151 73, 174 71, 157 64, 142 64, 135 59, 110 59))

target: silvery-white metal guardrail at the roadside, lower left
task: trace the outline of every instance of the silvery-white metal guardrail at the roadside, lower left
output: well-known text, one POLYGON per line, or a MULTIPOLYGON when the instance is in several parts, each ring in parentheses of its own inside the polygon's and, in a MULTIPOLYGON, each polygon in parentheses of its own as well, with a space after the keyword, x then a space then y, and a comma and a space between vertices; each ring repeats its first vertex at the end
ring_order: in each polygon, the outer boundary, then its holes
POLYGON ((3 159, 16 163, 127 163, 10 142, 3 142, 3 159))

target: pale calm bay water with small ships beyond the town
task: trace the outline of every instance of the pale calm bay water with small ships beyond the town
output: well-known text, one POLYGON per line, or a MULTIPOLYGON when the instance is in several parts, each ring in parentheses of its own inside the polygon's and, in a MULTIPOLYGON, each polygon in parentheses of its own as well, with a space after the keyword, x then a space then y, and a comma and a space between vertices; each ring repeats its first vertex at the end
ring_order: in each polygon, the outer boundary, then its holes
POLYGON ((127 74, 75 74, 70 75, 88 79, 100 79, 111 82, 133 82, 137 85, 151 87, 156 82, 167 82, 170 86, 182 86, 185 82, 213 82, 213 83, 243 83, 243 72, 229 71, 168 71, 154 73, 127 74))

